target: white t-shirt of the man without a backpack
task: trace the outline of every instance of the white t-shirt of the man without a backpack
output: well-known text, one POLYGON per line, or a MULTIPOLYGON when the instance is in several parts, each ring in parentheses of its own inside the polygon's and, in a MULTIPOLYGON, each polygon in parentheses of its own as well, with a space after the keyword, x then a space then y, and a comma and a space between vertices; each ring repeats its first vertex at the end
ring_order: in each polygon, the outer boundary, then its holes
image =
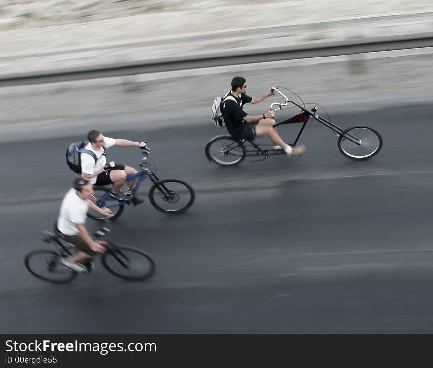
MULTIPOLYGON (((93 160, 94 162, 94 160, 93 160)), ((77 235, 75 224, 84 224, 89 210, 89 200, 83 200, 74 188, 69 189, 60 205, 57 228, 64 235, 77 235)))

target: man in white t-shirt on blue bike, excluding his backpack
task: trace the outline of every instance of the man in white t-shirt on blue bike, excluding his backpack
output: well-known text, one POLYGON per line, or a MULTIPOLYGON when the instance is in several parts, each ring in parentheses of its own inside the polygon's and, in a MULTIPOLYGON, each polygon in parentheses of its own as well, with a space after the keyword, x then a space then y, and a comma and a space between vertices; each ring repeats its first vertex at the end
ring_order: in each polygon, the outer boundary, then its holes
MULTIPOLYGON (((81 176, 89 180, 93 185, 104 186, 113 184, 110 196, 119 200, 128 199, 120 195, 119 190, 124 185, 126 176, 135 173, 137 170, 130 166, 117 163, 114 167, 109 167, 105 157, 105 149, 114 145, 143 148, 146 146, 146 143, 104 137, 102 133, 97 130, 91 130, 87 134, 87 139, 89 143, 84 148, 92 151, 96 155, 96 162, 93 156, 88 153, 81 153, 81 176)), ((126 184, 127 196, 131 194, 134 184, 135 180, 131 180, 126 184)), ((136 203, 142 202, 142 199, 136 198, 136 203)))

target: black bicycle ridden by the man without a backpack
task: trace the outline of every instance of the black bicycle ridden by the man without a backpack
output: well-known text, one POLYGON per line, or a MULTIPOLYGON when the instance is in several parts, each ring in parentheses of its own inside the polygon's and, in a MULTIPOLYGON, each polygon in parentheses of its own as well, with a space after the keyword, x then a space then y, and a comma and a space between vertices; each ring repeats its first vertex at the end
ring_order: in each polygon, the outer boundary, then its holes
MULTIPOLYGON (((111 274, 129 281, 148 279, 155 272, 155 262, 144 251, 129 246, 118 246, 110 235, 109 220, 95 232, 94 236, 102 240, 105 252, 101 254, 103 267, 111 274)), ((37 278, 51 283, 68 283, 78 272, 63 265, 62 258, 74 252, 74 246, 67 243, 54 224, 54 233, 42 232, 42 241, 54 245, 54 249, 37 249, 24 257, 27 270, 37 278)))

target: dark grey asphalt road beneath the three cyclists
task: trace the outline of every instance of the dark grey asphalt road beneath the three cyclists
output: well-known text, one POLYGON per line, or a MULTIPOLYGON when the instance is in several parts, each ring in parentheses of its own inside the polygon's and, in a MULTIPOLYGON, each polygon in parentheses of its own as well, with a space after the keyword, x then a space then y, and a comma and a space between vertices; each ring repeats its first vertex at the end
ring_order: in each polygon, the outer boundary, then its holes
MULTIPOLYGON (((143 283, 119 280, 99 261, 66 285, 28 273, 24 255, 49 247, 40 232, 74 177, 64 150, 84 137, 2 143, 1 332, 433 332, 431 105, 333 121, 376 128, 382 151, 351 161, 311 122, 302 157, 220 168, 204 155, 220 133, 210 123, 103 132, 146 139, 158 175, 196 190, 185 214, 145 200, 113 226, 121 243, 154 258, 156 273, 143 283)), ((280 133, 293 137, 294 128, 280 133)), ((108 153, 130 165, 140 159, 133 148, 108 153)))

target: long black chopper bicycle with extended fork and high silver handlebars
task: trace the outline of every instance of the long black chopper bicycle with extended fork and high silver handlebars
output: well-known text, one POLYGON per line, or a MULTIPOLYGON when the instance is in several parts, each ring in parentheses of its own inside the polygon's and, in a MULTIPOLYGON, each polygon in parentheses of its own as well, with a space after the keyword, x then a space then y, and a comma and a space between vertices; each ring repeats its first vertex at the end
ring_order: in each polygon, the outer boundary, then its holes
MULTIPOLYGON (((285 119, 277 124, 275 127, 286 124, 302 123, 295 141, 290 144, 295 146, 299 141, 302 132, 304 131, 307 121, 314 119, 331 129, 337 135, 337 145, 340 152, 352 160, 367 160, 379 153, 382 148, 382 137, 380 134, 368 126, 354 126, 349 129, 343 129, 333 124, 328 119, 323 118, 317 113, 317 106, 314 106, 311 111, 307 110, 304 106, 298 105, 289 99, 277 88, 272 87, 272 90, 277 92, 284 98, 284 103, 274 102, 269 107, 269 110, 284 110, 284 106, 293 104, 294 107, 301 109, 301 112, 285 119), (277 108, 273 109, 274 106, 277 108)), ((302 101, 302 99, 301 99, 302 101)), ((269 156, 285 155, 283 149, 267 148, 270 145, 259 146, 253 140, 236 139, 230 135, 220 135, 212 138, 205 147, 205 154, 209 161, 215 162, 222 166, 233 166, 241 163, 247 156, 259 156, 262 159, 255 160, 263 161, 269 156)))

